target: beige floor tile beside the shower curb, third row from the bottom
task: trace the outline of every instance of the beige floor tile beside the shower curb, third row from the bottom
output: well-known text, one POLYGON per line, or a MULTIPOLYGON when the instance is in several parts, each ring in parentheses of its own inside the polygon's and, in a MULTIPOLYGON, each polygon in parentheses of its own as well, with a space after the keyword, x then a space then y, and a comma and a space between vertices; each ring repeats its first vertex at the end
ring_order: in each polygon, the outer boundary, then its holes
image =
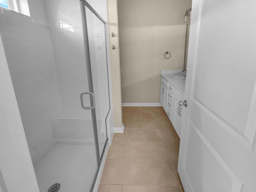
POLYGON ((109 147, 107 158, 124 158, 125 144, 125 141, 113 142, 109 147))

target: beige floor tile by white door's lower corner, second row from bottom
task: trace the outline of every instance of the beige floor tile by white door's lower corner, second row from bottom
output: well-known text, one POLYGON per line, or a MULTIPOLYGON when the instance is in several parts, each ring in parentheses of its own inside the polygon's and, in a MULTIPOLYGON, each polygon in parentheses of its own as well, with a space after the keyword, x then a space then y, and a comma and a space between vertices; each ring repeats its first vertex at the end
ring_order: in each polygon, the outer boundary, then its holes
POLYGON ((150 183, 156 186, 179 186, 170 160, 148 160, 150 183))

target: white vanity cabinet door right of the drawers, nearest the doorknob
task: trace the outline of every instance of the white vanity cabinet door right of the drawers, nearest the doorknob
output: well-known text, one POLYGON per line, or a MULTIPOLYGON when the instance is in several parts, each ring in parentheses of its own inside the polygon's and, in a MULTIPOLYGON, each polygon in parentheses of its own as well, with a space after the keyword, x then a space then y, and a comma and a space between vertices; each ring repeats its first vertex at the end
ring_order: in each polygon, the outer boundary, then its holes
POLYGON ((182 120, 182 107, 179 106, 180 99, 177 96, 174 96, 174 109, 173 109, 173 126, 176 130, 178 136, 180 137, 181 130, 181 120, 182 120))

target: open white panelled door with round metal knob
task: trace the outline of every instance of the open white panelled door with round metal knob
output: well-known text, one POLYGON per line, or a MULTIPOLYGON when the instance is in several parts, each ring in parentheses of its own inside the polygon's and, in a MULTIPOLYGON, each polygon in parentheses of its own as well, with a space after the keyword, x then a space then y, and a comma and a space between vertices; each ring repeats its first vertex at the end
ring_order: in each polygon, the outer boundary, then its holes
POLYGON ((186 192, 256 192, 255 0, 193 0, 178 172, 186 192))

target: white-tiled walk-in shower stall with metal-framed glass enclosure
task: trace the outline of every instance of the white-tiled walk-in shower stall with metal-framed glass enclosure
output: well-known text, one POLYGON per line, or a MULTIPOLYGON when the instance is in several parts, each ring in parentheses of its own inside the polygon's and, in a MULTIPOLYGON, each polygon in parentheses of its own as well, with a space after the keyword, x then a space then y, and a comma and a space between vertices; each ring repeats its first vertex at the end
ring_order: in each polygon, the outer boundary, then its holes
POLYGON ((106 21, 85 0, 41 2, 47 27, 26 36, 33 61, 12 67, 3 38, 34 172, 40 192, 89 192, 109 135, 106 21))

